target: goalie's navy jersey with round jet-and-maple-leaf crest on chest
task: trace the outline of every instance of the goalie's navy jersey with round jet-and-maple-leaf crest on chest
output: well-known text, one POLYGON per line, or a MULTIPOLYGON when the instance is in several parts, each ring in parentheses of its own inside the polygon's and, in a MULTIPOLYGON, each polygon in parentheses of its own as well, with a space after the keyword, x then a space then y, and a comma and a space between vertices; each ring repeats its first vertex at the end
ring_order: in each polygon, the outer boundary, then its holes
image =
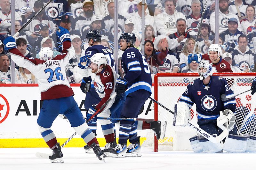
POLYGON ((211 76, 207 86, 198 78, 187 86, 179 102, 187 104, 190 108, 196 103, 198 119, 217 119, 220 111, 225 109, 230 109, 234 113, 236 111, 236 98, 222 101, 222 94, 226 94, 227 98, 234 94, 224 78, 211 76))

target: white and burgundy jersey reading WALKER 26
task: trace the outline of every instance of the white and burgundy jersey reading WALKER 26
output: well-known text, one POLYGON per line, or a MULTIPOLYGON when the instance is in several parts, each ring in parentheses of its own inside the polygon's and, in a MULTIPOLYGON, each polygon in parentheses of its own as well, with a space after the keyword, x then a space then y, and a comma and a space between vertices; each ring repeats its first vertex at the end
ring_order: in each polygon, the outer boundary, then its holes
POLYGON ((63 42, 63 51, 52 60, 40 60, 23 56, 17 48, 9 50, 12 60, 28 69, 38 81, 41 100, 58 99, 74 95, 66 78, 65 68, 69 58, 75 55, 70 41, 63 42))

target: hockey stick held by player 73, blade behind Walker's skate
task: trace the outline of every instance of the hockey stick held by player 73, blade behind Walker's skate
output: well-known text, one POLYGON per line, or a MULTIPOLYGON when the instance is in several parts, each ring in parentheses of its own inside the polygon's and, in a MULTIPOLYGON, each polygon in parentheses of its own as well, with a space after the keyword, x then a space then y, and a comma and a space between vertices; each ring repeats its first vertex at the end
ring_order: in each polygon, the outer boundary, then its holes
MULTIPOLYGON (((92 118, 97 115, 109 102, 110 100, 112 100, 114 97, 116 96, 116 92, 92 115, 92 117, 90 119, 88 119, 86 121, 86 123, 88 123, 90 120, 92 120, 92 118)), ((64 144, 62 144, 60 146, 60 149, 63 148, 74 136, 76 135, 76 132, 69 137, 66 142, 64 142, 64 144)), ((40 152, 36 152, 36 157, 37 158, 48 158, 51 154, 47 154, 47 153, 40 153, 40 152)))

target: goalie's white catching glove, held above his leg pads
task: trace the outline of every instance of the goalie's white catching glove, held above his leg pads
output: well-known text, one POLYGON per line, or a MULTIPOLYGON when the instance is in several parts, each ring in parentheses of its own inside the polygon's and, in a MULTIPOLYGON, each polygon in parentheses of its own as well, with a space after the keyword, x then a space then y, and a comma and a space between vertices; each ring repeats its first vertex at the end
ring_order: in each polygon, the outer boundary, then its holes
POLYGON ((235 119, 235 113, 233 113, 231 110, 226 109, 224 111, 220 111, 220 117, 217 118, 217 125, 220 127, 220 129, 228 129, 228 131, 230 132, 234 129, 234 126, 236 124, 235 119))

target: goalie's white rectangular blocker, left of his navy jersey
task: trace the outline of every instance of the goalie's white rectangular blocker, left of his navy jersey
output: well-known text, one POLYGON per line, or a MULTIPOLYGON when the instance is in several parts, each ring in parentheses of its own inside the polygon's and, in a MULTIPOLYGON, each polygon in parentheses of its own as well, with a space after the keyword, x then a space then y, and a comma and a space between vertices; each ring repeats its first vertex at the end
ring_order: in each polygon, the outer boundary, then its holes
POLYGON ((190 108, 184 103, 174 105, 173 126, 185 126, 190 121, 190 108))

